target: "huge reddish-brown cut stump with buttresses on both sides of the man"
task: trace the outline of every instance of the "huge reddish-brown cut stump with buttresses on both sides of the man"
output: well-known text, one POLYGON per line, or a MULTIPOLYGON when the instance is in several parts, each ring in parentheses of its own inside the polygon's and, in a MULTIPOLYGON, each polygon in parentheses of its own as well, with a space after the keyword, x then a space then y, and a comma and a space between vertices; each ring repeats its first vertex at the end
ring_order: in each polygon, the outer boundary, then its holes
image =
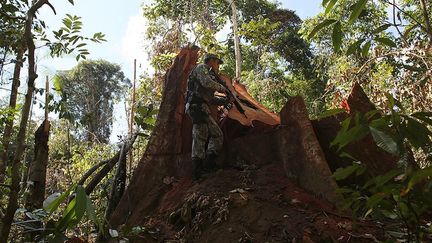
MULTIPOLYGON (((206 179, 190 179, 192 124, 184 109, 187 78, 196 65, 197 51, 183 48, 167 72, 155 128, 112 214, 111 228, 145 225, 147 216, 169 214, 197 188, 196 184, 206 183, 206 179)), ((337 184, 326 159, 328 148, 320 144, 301 97, 288 101, 279 118, 254 100, 243 85, 233 84, 223 75, 221 78, 239 96, 246 116, 234 107, 221 123, 224 149, 220 160, 224 161, 218 161, 219 165, 228 170, 245 166, 259 170, 276 164, 287 178, 313 196, 339 205, 337 184)), ((213 175, 208 176, 211 180, 213 175)))

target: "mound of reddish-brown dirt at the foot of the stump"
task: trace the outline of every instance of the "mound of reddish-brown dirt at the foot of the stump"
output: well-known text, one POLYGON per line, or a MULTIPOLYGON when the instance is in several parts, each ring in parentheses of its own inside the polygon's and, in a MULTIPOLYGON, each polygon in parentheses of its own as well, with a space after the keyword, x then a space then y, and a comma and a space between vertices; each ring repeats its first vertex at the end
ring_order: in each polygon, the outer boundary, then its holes
POLYGON ((282 165, 224 169, 171 185, 134 242, 377 242, 375 222, 353 223, 287 179, 282 165))

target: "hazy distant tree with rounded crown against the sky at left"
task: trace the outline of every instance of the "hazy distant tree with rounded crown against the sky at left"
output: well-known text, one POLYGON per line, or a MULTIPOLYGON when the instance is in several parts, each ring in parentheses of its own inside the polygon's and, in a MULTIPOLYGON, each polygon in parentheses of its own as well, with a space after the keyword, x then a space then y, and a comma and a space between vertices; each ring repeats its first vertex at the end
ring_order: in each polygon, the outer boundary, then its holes
POLYGON ((125 87, 120 66, 104 60, 82 61, 72 70, 58 73, 56 82, 69 118, 82 125, 86 140, 107 143, 113 105, 125 87))

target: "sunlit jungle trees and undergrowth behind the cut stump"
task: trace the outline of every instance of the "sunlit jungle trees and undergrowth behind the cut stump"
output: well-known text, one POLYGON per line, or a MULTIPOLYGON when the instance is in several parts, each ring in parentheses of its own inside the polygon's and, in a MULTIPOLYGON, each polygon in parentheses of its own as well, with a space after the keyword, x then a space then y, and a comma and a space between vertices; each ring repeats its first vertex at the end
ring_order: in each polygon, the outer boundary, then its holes
MULTIPOLYGON (((134 78, 119 64, 92 59, 89 43, 107 40, 100 32, 85 33, 79 16, 58 16, 62 26, 49 28, 39 9, 55 12, 56 4, 73 0, 0 4, 0 242, 94 241, 101 232, 127 239, 131 232, 104 230, 119 197, 112 188, 127 186, 152 132, 165 73, 179 49, 192 44, 220 55, 222 72, 276 113, 301 95, 311 119, 336 114, 353 83, 361 84, 382 117, 363 114, 345 122, 334 145, 343 148, 370 133, 401 159, 395 170, 371 178, 375 184, 341 190, 345 209, 353 219, 399 220, 393 239, 430 239, 430 1, 323 0, 321 12, 307 19, 267 0, 144 2, 151 67, 134 78), (228 35, 218 41, 223 30, 228 35), (42 56, 73 56, 76 65, 47 78, 38 73, 42 56), (128 132, 114 141, 119 103, 128 132), (415 165, 407 162, 410 156, 415 165), (124 167, 116 167, 118 161, 124 167), (39 181, 46 181, 42 191, 39 181)), ((353 158, 334 176, 365 170, 353 158)))

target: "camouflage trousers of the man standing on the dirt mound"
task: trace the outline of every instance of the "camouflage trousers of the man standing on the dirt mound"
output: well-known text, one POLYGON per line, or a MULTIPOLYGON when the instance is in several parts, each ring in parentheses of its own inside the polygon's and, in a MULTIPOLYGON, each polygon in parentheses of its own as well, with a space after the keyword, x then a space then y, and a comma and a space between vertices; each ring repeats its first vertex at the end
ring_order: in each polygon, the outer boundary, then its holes
POLYGON ((191 112, 191 109, 188 108, 186 108, 186 112, 191 116, 193 121, 192 159, 205 159, 206 154, 219 153, 223 145, 223 133, 216 121, 211 117, 208 106, 203 104, 200 107, 202 113, 198 119, 195 117, 196 113, 191 112), (207 140, 208 145, 206 149, 207 140))

